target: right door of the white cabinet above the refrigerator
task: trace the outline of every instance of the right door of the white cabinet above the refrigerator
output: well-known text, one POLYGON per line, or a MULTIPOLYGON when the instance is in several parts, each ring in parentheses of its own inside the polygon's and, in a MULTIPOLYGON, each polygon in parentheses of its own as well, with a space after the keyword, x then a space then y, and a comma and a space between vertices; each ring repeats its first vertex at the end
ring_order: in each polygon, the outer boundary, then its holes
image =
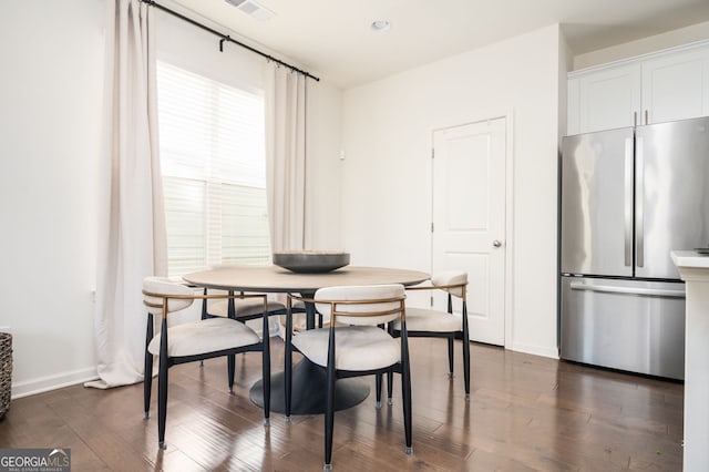
POLYGON ((706 115, 709 115, 709 48, 643 63, 643 124, 706 115))

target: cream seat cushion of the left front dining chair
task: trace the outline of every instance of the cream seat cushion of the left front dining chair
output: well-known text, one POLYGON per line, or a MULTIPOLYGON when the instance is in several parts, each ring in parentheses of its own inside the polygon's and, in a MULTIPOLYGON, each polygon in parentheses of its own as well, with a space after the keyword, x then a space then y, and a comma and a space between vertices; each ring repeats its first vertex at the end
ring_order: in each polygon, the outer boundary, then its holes
MULTIPOLYGON (((167 356, 182 357, 255 345, 260 340, 248 326, 229 318, 212 318, 167 328, 167 356)), ((160 355, 160 335, 147 350, 160 355)))

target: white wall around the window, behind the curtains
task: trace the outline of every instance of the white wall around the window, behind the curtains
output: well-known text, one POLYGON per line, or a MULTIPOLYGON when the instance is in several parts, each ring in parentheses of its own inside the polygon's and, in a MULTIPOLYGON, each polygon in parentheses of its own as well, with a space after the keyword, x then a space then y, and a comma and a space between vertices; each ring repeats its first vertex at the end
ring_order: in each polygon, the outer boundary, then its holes
MULTIPOLYGON (((0 2, 0 327, 13 334, 16 398, 96 372, 105 1, 0 2)), ((155 17, 158 47, 172 59, 197 51, 202 72, 234 79, 236 71, 242 83, 260 82, 259 57, 233 44, 219 53, 215 37, 163 12, 155 17)), ((339 227, 332 230, 319 215, 337 215, 339 208, 342 93, 325 82, 312 82, 308 93, 310 240, 341 247, 339 227)))

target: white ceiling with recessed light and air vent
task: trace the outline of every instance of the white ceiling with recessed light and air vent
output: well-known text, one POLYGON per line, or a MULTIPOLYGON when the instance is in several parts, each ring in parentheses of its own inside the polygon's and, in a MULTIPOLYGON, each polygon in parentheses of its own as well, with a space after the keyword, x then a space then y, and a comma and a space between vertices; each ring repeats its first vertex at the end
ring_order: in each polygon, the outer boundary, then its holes
POLYGON ((225 0, 157 0, 342 88, 555 23, 583 54, 709 21, 707 0, 256 1, 276 17, 259 21, 225 0), (374 32, 374 20, 391 28, 374 32))

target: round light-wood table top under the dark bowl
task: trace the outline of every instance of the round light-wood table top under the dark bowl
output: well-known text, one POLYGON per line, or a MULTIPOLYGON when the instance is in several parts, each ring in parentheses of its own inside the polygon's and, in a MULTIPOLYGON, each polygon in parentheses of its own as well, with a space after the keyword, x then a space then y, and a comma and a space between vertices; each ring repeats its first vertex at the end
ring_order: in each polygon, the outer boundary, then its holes
POLYGON ((201 287, 267 293, 315 293, 318 288, 350 285, 415 285, 430 278, 419 270, 346 266, 323 274, 296 274, 278 266, 228 266, 187 274, 201 287))

